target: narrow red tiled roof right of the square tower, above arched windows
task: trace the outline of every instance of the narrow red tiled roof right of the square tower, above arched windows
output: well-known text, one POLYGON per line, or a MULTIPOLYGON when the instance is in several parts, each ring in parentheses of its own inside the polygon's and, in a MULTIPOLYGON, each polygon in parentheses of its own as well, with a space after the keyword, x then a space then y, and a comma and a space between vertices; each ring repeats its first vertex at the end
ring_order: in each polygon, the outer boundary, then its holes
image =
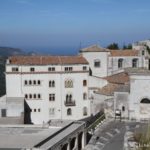
POLYGON ((113 57, 117 56, 138 56, 138 50, 110 50, 113 57))

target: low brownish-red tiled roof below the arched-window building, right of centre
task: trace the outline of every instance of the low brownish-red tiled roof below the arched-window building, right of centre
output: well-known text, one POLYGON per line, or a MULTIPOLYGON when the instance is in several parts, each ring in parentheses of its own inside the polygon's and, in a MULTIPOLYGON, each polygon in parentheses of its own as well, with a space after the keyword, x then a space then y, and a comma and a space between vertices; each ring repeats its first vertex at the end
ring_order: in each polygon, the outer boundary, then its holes
POLYGON ((121 72, 108 77, 104 77, 109 83, 125 84, 129 82, 129 75, 126 72, 121 72))

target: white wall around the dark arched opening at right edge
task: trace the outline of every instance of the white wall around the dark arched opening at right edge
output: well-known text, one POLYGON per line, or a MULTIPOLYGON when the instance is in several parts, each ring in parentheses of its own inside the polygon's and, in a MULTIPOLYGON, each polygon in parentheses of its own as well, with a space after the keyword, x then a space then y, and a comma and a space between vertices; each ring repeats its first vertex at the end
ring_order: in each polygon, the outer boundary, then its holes
MULTIPOLYGON (((131 75, 130 76, 130 96, 129 96, 129 116, 130 118, 144 118, 140 114, 140 101, 143 98, 150 99, 150 76, 131 75)), ((147 115, 145 116, 145 118, 147 115)), ((149 114, 150 117, 150 114, 149 114)))

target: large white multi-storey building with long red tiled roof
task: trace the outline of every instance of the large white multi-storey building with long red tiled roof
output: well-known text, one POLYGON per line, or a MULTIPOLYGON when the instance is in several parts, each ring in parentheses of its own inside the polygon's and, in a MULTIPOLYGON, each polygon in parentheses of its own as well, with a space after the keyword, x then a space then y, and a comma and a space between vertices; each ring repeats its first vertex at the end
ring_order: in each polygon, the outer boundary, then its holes
POLYGON ((10 57, 6 97, 25 97, 34 124, 51 119, 79 120, 91 115, 88 70, 82 56, 10 57))

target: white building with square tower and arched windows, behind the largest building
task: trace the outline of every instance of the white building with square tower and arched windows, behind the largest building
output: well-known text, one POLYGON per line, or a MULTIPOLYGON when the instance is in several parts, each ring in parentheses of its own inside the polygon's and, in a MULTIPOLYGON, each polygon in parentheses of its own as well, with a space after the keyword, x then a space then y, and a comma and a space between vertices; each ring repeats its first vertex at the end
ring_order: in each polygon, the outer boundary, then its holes
POLYGON ((93 45, 81 49, 80 53, 89 62, 90 75, 96 77, 113 75, 129 67, 148 67, 145 49, 109 50, 93 45))

